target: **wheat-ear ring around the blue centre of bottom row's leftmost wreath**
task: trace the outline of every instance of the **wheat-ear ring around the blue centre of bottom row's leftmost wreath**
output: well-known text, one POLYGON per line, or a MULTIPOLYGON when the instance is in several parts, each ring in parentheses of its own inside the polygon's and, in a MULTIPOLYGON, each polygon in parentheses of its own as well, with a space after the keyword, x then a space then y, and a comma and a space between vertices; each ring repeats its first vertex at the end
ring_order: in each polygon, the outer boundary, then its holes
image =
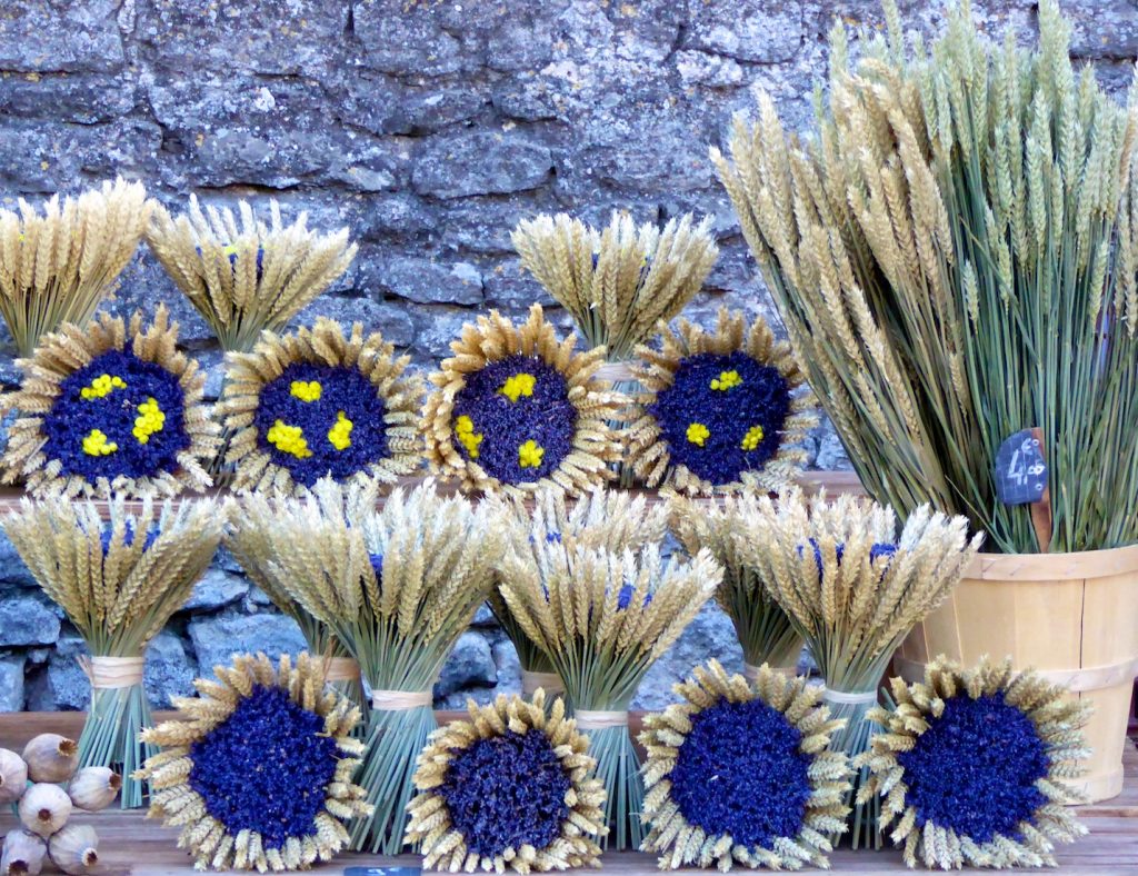
MULTIPOLYGON (((217 681, 195 681, 199 696, 175 697, 178 720, 142 732, 143 741, 162 749, 138 774, 150 782, 148 817, 182 828, 179 845, 193 854, 197 869, 279 873, 308 869, 313 863, 331 860, 348 843, 344 820, 371 812, 371 805, 363 800, 364 788, 353 780, 364 752, 363 743, 351 735, 360 720, 358 710, 324 685, 321 660, 305 653, 297 655, 295 666, 288 654, 275 666, 264 654, 244 654, 234 659, 232 667, 215 667, 214 673, 217 681), (331 780, 322 788, 322 805, 306 833, 289 836, 273 848, 266 848, 256 830, 242 829, 234 835, 211 813, 207 800, 189 782, 195 767, 193 745, 233 716, 255 688, 286 692, 296 706, 319 716, 323 720, 321 735, 335 741, 336 767, 331 780)), ((250 754, 272 759, 266 768, 286 757, 281 752, 250 754)))

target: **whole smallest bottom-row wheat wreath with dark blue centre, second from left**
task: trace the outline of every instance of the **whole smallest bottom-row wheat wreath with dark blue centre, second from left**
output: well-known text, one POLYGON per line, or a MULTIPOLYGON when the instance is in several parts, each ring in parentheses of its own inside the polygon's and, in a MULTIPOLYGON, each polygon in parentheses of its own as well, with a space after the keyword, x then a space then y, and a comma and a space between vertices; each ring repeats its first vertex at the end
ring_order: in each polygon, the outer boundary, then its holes
POLYGON ((407 842, 427 869, 545 873, 600 867, 595 837, 604 788, 593 778, 588 737, 545 692, 533 702, 467 701, 470 719, 431 734, 419 755, 407 807, 407 842))

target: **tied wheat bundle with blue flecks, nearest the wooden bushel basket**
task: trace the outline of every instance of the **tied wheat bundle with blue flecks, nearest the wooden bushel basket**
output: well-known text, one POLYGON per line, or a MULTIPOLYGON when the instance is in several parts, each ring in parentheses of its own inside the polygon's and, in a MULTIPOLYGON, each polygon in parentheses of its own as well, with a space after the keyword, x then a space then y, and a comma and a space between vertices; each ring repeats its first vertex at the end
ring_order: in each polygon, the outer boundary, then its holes
MULTIPOLYGON (((881 732, 866 713, 877 704, 893 652, 957 585, 983 536, 970 542, 965 518, 927 505, 915 509, 898 535, 890 507, 852 496, 807 501, 800 490, 777 505, 765 496, 740 511, 743 562, 806 641, 832 717, 846 719, 833 747, 857 757, 881 732)), ((880 798, 857 802, 867 780, 863 768, 848 801, 855 849, 881 846, 880 798)))

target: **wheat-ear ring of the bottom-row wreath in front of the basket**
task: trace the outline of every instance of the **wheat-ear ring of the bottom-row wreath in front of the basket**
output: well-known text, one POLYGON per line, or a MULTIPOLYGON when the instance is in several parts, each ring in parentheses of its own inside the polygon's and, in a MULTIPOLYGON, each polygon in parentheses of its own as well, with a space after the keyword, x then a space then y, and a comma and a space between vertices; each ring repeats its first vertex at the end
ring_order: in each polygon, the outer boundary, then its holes
MULTIPOLYGON (((869 712, 869 720, 881 725, 883 732, 874 736, 872 751, 860 755, 855 767, 869 770, 869 780, 863 786, 859 800, 882 798, 882 829, 892 823, 890 837, 898 845, 904 843, 906 865, 916 867, 921 862, 945 870, 964 866, 1054 867, 1055 843, 1070 843, 1087 833, 1070 808, 1079 802, 1079 795, 1065 784, 1081 775, 1079 761, 1089 754, 1082 735, 1090 714, 1086 702, 1072 699, 1062 687, 1034 672, 1013 672, 1009 660, 987 659, 966 670, 939 658, 925 667, 922 683, 907 685, 904 679, 893 678, 890 693, 896 708, 869 712), (1001 708, 1019 710, 1030 721, 1046 752, 1046 775, 1033 784, 1038 807, 1011 832, 996 833, 990 838, 968 836, 951 825, 923 817, 912 800, 913 770, 898 760, 916 747, 923 734, 946 714, 947 703, 958 697, 972 702, 996 700, 1001 708)), ((987 754, 1001 757, 999 752, 987 754)), ((923 777, 924 780, 951 787, 978 778, 974 772, 953 775, 946 768, 938 769, 935 776, 923 777)))

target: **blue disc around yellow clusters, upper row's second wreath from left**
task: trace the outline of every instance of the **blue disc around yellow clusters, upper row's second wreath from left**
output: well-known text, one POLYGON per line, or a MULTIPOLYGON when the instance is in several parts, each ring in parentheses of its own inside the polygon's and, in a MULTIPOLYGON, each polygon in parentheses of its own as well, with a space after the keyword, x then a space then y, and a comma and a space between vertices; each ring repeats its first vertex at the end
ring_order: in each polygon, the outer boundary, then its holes
POLYGON ((347 480, 387 458, 386 415, 387 405, 374 385, 356 369, 297 362, 262 388, 253 422, 261 449, 287 469, 292 480, 311 487, 329 476, 347 480), (294 381, 320 383, 320 398, 314 402, 297 398, 292 395, 294 381), (337 449, 328 432, 341 411, 352 421, 351 444, 337 449), (270 443, 269 430, 278 420, 300 428, 311 456, 300 458, 270 443))

